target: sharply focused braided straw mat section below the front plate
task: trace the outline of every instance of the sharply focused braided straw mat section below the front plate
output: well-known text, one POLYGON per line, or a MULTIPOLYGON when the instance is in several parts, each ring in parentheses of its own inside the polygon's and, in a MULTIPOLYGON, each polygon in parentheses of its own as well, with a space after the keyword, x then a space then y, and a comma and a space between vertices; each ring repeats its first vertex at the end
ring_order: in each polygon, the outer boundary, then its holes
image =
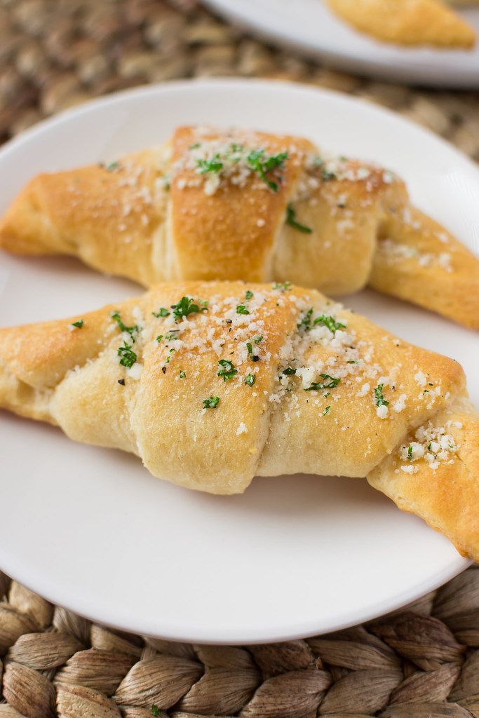
POLYGON ((479 567, 368 625, 245 648, 102 628, 4 574, 0 597, 0 718, 479 717, 479 567))

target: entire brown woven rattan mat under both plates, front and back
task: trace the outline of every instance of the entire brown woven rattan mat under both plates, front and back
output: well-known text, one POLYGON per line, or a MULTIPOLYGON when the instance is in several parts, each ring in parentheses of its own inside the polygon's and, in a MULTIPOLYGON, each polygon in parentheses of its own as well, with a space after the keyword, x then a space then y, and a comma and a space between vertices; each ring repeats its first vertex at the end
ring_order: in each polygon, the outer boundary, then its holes
MULTIPOLYGON (((261 45, 192 0, 0 0, 0 141, 104 93, 213 75, 359 95, 479 159, 475 93, 337 73, 261 45)), ((0 718, 479 718, 479 568, 366 627, 248 648, 106 630, 1 573, 0 600, 0 718)))

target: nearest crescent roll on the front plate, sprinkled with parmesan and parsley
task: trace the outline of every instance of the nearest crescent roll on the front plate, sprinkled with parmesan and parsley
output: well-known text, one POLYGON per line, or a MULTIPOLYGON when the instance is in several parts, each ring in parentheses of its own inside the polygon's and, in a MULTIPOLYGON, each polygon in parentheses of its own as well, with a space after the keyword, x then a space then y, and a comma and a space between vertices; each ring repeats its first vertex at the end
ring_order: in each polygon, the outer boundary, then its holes
POLYGON ((368 476, 479 558, 479 421, 460 365, 315 290, 163 284, 2 329, 0 406, 211 493, 368 476))

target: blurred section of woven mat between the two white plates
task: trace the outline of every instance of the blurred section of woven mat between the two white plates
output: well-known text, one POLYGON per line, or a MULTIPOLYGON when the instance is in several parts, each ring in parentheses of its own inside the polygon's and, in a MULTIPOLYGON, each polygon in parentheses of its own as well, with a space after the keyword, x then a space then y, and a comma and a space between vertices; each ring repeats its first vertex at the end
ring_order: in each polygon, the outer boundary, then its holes
POLYGON ((0 0, 0 141, 104 93, 214 75, 299 80, 359 95, 479 159, 479 93, 338 73, 246 37, 195 0, 0 0))

